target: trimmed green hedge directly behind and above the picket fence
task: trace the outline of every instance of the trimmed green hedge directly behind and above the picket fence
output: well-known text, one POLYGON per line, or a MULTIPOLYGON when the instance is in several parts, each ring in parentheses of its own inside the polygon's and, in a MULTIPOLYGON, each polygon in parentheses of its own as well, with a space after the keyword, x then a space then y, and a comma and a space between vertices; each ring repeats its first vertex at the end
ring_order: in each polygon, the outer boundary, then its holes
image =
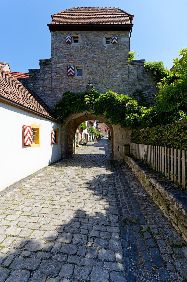
POLYGON ((132 132, 131 142, 187 150, 187 120, 132 132))

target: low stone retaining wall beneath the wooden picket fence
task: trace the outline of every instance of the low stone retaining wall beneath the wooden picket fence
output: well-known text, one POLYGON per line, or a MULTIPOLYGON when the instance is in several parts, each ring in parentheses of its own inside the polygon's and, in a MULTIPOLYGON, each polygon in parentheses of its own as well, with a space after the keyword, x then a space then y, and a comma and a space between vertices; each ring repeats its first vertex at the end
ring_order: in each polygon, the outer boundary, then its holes
POLYGON ((149 169, 134 157, 124 155, 124 160, 150 197, 187 242, 187 192, 176 190, 177 186, 170 180, 156 173, 150 173, 149 169))

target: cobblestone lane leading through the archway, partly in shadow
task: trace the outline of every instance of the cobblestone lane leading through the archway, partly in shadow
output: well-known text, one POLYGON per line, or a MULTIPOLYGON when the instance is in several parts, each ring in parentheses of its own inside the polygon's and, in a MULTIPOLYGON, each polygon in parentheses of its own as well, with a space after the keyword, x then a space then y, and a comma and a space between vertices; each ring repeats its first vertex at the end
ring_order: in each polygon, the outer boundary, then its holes
POLYGON ((4 190, 0 282, 186 281, 185 242, 107 142, 4 190))

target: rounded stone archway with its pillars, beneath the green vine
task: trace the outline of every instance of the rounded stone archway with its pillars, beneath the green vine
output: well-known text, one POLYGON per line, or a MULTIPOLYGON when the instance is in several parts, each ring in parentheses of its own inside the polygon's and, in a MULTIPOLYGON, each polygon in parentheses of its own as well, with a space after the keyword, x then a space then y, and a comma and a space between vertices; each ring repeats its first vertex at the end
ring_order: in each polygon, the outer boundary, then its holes
POLYGON ((108 124, 106 118, 98 115, 91 115, 86 111, 83 113, 73 114, 66 118, 61 125, 61 158, 66 158, 75 153, 75 134, 79 125, 86 120, 100 120, 108 125, 111 132, 111 149, 114 159, 123 159, 123 146, 130 145, 131 130, 122 128, 116 124, 108 124))

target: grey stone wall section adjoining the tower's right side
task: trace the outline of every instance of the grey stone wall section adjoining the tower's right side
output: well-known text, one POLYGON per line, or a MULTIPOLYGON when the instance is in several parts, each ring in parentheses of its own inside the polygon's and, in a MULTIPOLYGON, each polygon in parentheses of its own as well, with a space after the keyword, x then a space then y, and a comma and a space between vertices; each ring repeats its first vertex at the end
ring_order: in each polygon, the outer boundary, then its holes
MULTIPOLYGON (((155 81, 150 78, 149 72, 145 71, 145 60, 132 60, 129 62, 129 96, 133 96, 136 89, 142 91, 149 106, 155 106, 155 95, 158 93, 158 87, 155 81)), ((141 100, 141 96, 137 99, 141 100)))

